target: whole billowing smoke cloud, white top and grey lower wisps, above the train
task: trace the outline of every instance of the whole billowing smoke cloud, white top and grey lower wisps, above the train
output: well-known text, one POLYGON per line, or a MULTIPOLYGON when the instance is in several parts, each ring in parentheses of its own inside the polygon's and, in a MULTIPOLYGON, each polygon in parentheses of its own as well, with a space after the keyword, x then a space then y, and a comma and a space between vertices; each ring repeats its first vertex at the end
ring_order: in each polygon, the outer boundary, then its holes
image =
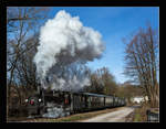
POLYGON ((101 57, 104 45, 100 32, 61 10, 41 26, 39 40, 34 63, 44 88, 45 76, 51 76, 52 89, 77 90, 90 84, 86 71, 74 74, 72 69, 101 57))

